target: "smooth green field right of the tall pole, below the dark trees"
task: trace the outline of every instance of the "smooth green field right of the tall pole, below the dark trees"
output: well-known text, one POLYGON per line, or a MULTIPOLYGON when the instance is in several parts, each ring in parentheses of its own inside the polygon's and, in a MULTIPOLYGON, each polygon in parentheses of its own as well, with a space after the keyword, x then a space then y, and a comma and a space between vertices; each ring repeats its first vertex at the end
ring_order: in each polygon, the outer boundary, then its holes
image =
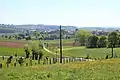
MULTIPOLYGON (((116 55, 120 54, 120 48, 115 48, 114 53, 116 55)), ((86 47, 71 47, 64 48, 63 54, 67 56, 74 57, 86 57, 89 54, 90 57, 94 58, 105 58, 107 54, 111 54, 111 48, 92 48, 88 49, 86 47)))

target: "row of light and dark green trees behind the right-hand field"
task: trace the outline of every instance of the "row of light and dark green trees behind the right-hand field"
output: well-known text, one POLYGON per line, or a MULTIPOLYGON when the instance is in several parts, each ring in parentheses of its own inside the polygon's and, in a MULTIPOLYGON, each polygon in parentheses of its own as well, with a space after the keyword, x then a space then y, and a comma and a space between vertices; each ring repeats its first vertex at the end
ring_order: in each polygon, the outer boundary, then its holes
POLYGON ((109 32, 107 36, 97 36, 86 30, 78 30, 75 33, 75 42, 87 48, 120 47, 120 33, 116 30, 109 32))

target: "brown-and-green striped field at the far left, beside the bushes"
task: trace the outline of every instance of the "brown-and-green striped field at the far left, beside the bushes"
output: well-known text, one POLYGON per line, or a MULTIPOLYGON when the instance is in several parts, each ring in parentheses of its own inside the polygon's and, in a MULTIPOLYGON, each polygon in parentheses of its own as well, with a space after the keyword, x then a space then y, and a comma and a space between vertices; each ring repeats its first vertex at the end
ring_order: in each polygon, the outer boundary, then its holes
POLYGON ((23 54, 25 42, 17 41, 0 41, 0 56, 23 54))

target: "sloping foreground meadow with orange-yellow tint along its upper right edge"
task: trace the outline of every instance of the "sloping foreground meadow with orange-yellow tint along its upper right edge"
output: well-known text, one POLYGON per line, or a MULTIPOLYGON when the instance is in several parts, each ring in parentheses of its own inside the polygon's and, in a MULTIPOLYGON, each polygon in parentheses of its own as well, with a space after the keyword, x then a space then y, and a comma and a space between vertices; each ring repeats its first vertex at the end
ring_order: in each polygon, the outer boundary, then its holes
POLYGON ((119 80, 120 59, 0 69, 1 80, 119 80))

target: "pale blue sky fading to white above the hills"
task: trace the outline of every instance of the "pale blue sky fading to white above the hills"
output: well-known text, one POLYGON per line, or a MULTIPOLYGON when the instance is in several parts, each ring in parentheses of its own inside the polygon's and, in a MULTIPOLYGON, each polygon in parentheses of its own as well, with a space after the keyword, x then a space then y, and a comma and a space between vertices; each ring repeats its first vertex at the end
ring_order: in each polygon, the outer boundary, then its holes
POLYGON ((0 0, 0 24, 120 27, 120 0, 0 0))

